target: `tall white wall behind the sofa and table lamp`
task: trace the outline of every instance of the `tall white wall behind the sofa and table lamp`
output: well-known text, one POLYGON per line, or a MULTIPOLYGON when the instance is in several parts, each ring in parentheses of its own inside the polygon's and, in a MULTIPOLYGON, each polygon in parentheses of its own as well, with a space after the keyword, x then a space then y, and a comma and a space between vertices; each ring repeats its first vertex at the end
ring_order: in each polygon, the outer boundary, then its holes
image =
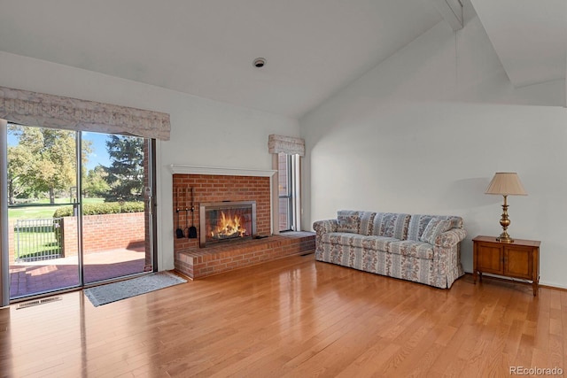
POLYGON ((485 188, 514 171, 529 195, 509 197, 509 234, 540 240, 540 283, 567 288, 565 81, 514 89, 465 11, 461 31, 439 23, 300 120, 304 224, 339 209, 460 215, 471 272, 471 239, 501 233, 502 197, 485 188))

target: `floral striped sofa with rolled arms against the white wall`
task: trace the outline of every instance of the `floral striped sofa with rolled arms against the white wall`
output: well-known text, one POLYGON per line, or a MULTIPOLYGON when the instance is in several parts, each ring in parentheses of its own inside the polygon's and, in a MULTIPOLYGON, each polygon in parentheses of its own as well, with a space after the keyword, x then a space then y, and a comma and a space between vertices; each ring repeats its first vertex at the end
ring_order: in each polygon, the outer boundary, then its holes
POLYGON ((461 217, 341 210, 313 228, 318 261, 441 289, 464 274, 461 217))

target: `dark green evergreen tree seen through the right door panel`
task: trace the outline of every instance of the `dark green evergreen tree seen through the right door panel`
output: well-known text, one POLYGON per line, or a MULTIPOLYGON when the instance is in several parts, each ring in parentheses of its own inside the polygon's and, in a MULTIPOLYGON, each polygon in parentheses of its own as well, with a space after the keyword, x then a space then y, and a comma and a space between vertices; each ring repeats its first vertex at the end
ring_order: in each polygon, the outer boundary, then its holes
POLYGON ((106 141, 111 166, 105 201, 139 201, 144 190, 144 138, 111 135, 106 141))

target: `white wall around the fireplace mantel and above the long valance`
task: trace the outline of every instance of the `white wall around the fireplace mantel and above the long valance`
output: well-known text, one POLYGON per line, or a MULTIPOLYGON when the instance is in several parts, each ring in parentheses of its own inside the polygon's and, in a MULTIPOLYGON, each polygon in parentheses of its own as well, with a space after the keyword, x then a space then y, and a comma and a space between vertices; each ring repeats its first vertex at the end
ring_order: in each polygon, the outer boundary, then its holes
POLYGON ((171 164, 271 169, 268 135, 299 136, 297 120, 0 51, 0 86, 167 112, 158 142, 159 269, 174 267, 171 164))

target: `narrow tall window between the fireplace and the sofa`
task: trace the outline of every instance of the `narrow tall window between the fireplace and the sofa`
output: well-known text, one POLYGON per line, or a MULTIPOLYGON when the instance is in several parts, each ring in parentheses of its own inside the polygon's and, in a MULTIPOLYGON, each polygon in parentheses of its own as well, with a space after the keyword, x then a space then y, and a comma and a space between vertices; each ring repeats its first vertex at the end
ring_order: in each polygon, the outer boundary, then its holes
POLYGON ((278 154, 279 230, 299 229, 299 157, 283 152, 278 154))

